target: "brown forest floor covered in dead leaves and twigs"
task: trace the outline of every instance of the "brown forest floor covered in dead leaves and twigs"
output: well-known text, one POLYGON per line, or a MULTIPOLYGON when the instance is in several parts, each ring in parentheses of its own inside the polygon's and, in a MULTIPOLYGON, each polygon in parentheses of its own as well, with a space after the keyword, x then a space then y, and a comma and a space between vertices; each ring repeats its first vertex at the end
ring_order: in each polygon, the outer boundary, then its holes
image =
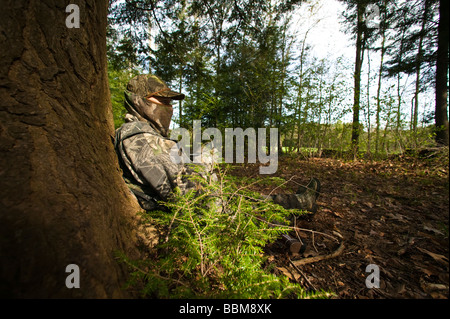
MULTIPOLYGON (((263 176, 258 164, 235 166, 230 174, 263 176)), ((293 255, 281 241, 270 245, 268 263, 275 271, 339 299, 448 299, 448 157, 344 161, 282 156, 274 176, 289 181, 284 189, 267 184, 251 189, 295 192, 310 177, 321 181, 317 213, 298 220, 297 227, 304 230, 291 233, 307 243, 306 251, 293 255), (344 250, 335 256, 340 243, 344 250), (323 255, 329 258, 291 263, 323 255), (379 267, 379 288, 366 286, 369 264, 379 267)))

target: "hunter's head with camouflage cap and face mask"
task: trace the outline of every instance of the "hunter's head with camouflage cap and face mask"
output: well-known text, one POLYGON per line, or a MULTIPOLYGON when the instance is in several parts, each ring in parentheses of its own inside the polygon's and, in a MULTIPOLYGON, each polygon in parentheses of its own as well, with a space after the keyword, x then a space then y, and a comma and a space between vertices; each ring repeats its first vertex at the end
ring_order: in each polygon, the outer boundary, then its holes
POLYGON ((151 74, 138 75, 133 78, 125 91, 125 108, 139 121, 148 121, 163 136, 168 135, 173 108, 169 104, 152 103, 148 98, 182 100, 184 94, 174 92, 159 77, 151 74))

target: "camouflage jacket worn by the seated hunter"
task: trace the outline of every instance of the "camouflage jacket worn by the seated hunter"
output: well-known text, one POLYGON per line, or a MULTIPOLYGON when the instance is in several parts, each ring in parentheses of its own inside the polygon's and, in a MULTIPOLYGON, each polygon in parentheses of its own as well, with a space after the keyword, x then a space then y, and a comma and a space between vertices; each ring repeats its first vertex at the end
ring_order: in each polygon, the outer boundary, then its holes
POLYGON ((116 131, 115 150, 123 177, 146 210, 155 209, 157 201, 169 200, 175 187, 185 193, 196 186, 187 178, 194 171, 171 159, 171 152, 179 150, 176 145, 149 122, 134 117, 116 131))

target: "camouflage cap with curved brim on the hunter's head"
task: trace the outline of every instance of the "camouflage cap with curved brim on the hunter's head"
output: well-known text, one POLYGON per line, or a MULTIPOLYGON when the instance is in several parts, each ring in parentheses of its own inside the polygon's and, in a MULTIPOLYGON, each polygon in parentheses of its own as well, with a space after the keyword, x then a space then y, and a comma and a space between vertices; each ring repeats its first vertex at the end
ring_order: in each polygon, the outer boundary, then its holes
POLYGON ((167 84, 156 75, 142 74, 130 80, 127 90, 142 97, 166 97, 173 100, 184 99, 184 94, 172 91, 167 84))

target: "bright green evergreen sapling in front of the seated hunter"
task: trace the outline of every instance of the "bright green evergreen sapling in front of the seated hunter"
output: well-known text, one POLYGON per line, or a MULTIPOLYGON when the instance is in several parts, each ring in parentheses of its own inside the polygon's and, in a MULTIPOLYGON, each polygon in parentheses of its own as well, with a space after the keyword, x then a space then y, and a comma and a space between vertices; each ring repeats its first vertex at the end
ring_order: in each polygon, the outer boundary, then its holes
MULTIPOLYGON (((279 223, 293 211, 238 188, 218 169, 207 179, 193 177, 200 191, 175 194, 169 212, 148 212, 161 232, 149 260, 127 261, 144 297, 156 298, 302 298, 299 284, 264 267, 264 247, 289 229, 279 223)), ((301 213, 298 211, 294 211, 301 213)))

